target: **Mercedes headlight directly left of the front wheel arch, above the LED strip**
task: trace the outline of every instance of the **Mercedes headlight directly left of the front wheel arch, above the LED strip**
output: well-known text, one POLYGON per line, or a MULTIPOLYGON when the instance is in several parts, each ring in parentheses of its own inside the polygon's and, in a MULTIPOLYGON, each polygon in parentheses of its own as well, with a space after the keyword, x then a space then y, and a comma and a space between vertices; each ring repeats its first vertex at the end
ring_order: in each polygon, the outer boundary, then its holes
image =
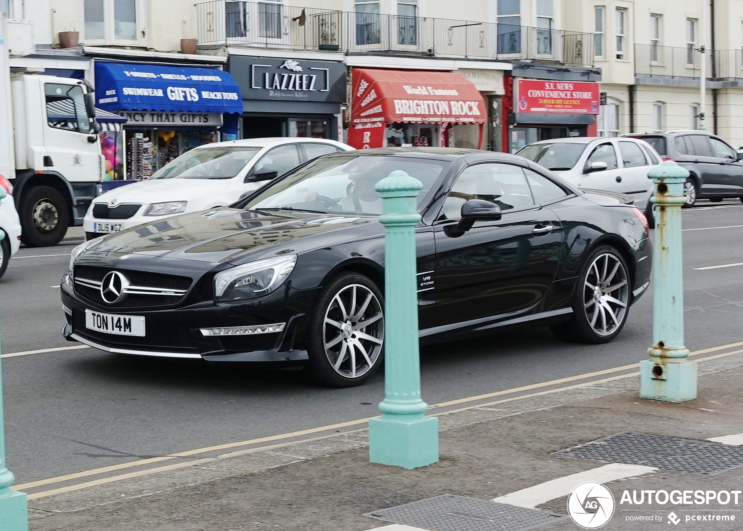
POLYGON ((214 277, 216 300, 262 297, 282 285, 296 264, 296 254, 267 258, 221 271, 214 277))

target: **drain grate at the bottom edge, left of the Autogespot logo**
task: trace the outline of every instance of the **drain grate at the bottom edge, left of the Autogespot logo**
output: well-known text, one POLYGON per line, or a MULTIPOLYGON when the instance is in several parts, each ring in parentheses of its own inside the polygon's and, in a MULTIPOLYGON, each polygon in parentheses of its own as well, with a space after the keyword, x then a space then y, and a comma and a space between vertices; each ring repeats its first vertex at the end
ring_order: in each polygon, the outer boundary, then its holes
POLYGON ((551 524, 559 515, 505 503, 445 494, 366 513, 429 531, 522 531, 551 524))

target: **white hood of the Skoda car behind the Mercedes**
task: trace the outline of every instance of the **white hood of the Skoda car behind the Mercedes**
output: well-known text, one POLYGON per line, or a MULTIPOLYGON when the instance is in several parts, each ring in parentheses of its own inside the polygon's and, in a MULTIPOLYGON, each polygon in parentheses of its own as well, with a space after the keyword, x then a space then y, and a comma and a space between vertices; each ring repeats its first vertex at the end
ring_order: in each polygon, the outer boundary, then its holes
POLYGON ((230 179, 209 178, 162 178, 138 181, 115 188, 98 196, 94 203, 116 205, 122 203, 160 203, 166 201, 189 201, 205 193, 221 192, 230 186, 230 179))

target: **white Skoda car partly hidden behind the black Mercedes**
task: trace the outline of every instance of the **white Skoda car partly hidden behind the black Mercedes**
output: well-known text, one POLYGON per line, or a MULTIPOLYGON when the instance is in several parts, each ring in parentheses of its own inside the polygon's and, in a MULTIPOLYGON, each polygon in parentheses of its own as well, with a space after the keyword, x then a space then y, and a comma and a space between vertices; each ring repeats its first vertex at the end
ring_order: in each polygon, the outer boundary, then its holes
POLYGON ((145 181, 98 196, 85 213, 85 236, 230 205, 305 161, 353 149, 324 138, 250 138, 195 147, 145 181))

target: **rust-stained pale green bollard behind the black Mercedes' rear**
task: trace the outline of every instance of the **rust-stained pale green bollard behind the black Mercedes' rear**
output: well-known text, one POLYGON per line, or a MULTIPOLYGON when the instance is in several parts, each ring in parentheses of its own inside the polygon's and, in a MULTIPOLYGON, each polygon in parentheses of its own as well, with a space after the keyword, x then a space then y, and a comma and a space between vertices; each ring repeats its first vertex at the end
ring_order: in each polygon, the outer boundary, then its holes
POLYGON ((697 364, 684 347, 684 255, 681 207, 689 172, 673 161, 648 174, 655 183, 650 199, 655 215, 653 254, 653 346, 640 361, 640 398, 685 402, 697 396, 697 364))

